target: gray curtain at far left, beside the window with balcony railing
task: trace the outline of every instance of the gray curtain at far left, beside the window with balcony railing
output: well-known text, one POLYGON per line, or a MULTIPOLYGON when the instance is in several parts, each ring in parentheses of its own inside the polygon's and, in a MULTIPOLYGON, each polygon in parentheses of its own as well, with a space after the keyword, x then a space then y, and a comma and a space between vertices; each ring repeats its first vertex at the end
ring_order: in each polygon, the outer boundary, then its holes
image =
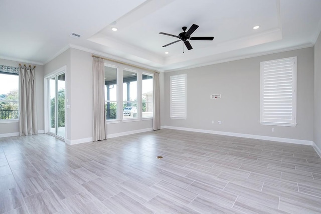
POLYGON ((19 134, 38 134, 35 68, 19 69, 19 134))

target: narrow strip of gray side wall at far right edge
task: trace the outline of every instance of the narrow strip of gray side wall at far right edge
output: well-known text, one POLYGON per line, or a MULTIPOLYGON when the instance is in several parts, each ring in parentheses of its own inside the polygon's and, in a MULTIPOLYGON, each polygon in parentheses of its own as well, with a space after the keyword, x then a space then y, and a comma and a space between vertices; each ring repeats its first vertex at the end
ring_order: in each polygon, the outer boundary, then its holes
POLYGON ((321 33, 314 45, 313 142, 321 150, 321 33))

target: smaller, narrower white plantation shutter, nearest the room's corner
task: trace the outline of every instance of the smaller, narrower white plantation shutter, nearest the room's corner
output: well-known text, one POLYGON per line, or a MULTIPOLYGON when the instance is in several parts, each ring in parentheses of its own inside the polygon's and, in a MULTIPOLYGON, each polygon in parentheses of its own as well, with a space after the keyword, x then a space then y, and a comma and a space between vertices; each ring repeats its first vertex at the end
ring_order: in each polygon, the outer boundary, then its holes
POLYGON ((171 118, 186 119, 186 74, 171 76, 171 118))

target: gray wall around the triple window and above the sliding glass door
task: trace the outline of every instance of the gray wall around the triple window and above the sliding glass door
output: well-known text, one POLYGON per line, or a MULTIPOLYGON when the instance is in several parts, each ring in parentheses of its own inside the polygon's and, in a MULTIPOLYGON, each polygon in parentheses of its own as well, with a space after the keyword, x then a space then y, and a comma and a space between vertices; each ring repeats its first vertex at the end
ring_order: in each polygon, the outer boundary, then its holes
MULTIPOLYGON (((92 138, 93 97, 91 55, 92 53, 71 48, 45 65, 45 76, 67 65, 67 99, 69 101, 68 105, 70 105, 70 109, 67 109, 67 140, 89 141, 92 138)), ((115 65, 122 66, 121 64, 115 65)), ((161 97, 163 96, 164 98, 164 74, 160 74, 159 79, 161 81, 161 97)), ((161 104, 161 108, 163 111, 164 103, 161 104)), ((152 128, 152 120, 120 121, 119 123, 107 124, 107 135, 117 135, 123 132, 134 132, 148 128, 152 128)))

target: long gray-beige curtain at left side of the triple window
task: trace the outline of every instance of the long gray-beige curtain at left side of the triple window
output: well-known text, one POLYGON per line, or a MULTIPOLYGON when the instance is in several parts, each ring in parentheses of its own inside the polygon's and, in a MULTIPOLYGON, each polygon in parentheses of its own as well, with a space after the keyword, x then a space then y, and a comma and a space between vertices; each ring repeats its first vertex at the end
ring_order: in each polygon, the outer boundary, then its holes
POLYGON ((92 63, 92 88, 93 88, 93 141, 106 139, 106 114, 105 114, 105 64, 104 60, 93 57, 92 63))

